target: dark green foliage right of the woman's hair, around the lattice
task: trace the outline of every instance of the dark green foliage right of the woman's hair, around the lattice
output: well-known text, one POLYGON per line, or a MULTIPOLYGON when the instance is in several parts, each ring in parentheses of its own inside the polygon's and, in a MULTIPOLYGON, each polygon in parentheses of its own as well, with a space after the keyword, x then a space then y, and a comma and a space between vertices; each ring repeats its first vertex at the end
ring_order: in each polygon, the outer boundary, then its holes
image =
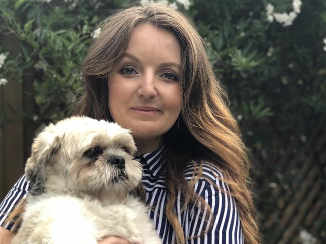
MULTIPOLYGON (((326 115, 326 2, 302 2, 301 13, 286 27, 268 21, 266 6, 289 13, 291 0, 198 0, 192 6, 194 23, 252 156, 254 196, 263 223, 286 200, 271 201, 273 187, 284 187, 290 198, 302 184, 298 169, 287 171, 287 164, 300 151, 315 150, 322 136, 315 130, 326 128, 320 125, 326 115), (288 150, 287 161, 278 163, 288 150)), ((308 155, 300 160, 308 160, 308 155)), ((319 227, 310 231, 321 232, 325 219, 323 213, 319 227)), ((275 229, 261 224, 260 230, 263 243, 277 242, 275 229)))

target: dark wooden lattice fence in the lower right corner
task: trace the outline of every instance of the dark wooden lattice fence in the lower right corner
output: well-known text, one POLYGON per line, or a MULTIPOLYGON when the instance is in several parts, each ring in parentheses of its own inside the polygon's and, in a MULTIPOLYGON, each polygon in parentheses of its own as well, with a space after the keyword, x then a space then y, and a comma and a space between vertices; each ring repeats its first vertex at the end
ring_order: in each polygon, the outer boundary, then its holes
MULTIPOLYGON (((273 232, 268 243, 302 243, 300 233, 305 230, 316 243, 326 243, 326 117, 311 132, 300 151, 293 153, 289 146, 273 160, 281 165, 283 175, 293 175, 294 180, 290 185, 278 184, 268 196, 274 209, 259 221, 265 232, 273 232)), ((268 178, 266 175, 266 184, 268 178)))

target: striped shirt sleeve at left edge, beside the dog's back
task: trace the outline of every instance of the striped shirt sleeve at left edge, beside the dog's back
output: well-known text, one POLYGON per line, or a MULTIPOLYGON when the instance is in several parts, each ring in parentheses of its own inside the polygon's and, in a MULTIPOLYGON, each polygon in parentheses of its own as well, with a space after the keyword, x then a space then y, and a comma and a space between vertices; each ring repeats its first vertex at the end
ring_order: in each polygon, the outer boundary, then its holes
POLYGON ((9 222, 3 226, 9 213, 15 208, 17 203, 25 198, 29 191, 29 183, 26 181, 25 175, 23 175, 8 192, 2 203, 0 204, 0 226, 10 230, 14 223, 9 222))

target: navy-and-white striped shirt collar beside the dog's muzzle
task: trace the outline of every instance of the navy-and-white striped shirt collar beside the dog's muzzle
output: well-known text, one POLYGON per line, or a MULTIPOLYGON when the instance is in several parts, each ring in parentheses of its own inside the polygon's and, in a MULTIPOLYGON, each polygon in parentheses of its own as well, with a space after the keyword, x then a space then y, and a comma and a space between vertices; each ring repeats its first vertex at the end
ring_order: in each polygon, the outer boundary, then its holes
POLYGON ((143 168, 147 168, 154 178, 158 178, 162 173, 161 157, 164 146, 153 152, 136 155, 135 160, 140 161, 143 168))

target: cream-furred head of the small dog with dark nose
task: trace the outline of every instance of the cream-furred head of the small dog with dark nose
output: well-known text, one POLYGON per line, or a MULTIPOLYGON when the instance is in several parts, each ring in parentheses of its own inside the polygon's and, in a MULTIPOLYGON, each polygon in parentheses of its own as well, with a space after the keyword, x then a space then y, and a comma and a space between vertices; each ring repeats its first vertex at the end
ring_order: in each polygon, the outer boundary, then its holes
POLYGON ((129 130, 115 123, 71 117, 34 140, 25 173, 31 193, 73 193, 103 202, 123 200, 140 183, 142 168, 129 130))

